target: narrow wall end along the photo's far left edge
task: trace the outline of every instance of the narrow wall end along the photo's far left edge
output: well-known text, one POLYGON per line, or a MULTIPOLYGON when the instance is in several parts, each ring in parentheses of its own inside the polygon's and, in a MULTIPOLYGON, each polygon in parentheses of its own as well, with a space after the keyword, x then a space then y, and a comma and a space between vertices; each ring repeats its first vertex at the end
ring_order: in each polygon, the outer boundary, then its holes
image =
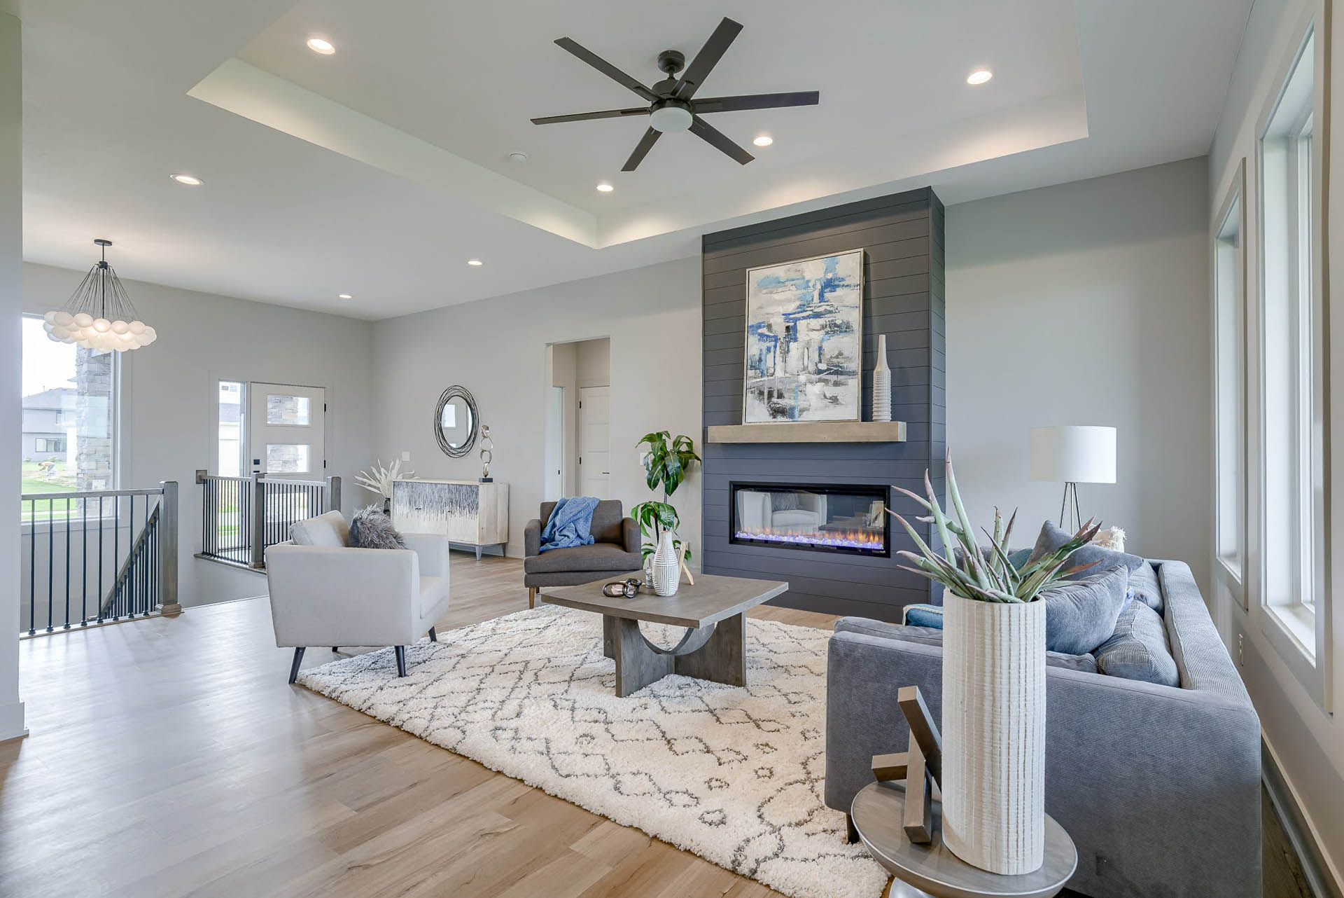
POLYGON ((0 12, 0 739, 23 734, 19 700, 19 397, 23 352, 23 67, 19 20, 0 12))

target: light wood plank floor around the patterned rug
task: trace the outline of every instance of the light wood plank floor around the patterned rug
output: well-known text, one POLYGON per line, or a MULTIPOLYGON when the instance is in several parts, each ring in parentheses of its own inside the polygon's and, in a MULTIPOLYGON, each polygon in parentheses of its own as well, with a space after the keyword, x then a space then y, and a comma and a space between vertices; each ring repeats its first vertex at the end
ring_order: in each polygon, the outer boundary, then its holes
MULTIPOLYGON (((439 628, 527 608, 520 569, 454 553, 439 628)), ((289 660, 265 600, 23 641, 31 735, 0 745, 0 895, 777 894, 288 686, 289 660)), ((1285 844, 1266 815, 1270 898, 1306 894, 1285 844)))

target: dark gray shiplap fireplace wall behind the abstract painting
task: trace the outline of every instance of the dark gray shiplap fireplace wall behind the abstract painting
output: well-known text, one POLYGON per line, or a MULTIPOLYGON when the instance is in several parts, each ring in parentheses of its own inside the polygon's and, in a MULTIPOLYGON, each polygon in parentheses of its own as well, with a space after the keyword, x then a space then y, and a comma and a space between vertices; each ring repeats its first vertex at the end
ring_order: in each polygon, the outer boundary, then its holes
MULTIPOLYGON (((898 485, 922 493, 926 468, 942 492, 943 208, 933 190, 704 235, 704 426, 742 423, 747 269, 859 247, 864 250, 863 419, 871 417, 878 335, 886 333, 891 415, 907 422, 907 441, 703 442, 702 565, 710 574, 788 579, 789 591, 774 604, 899 621, 902 606, 930 596, 927 581, 898 569, 899 558, 730 543, 728 500, 730 484, 742 481, 898 485)), ((911 520, 922 514, 895 492, 890 507, 911 520)), ((891 538, 894 550, 913 548, 899 524, 891 538)))

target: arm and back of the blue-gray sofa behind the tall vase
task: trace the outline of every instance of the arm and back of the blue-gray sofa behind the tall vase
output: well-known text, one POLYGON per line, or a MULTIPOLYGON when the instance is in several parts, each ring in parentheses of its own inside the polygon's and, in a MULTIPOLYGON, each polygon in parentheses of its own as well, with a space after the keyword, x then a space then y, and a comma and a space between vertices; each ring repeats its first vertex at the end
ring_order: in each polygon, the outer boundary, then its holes
MULTIPOLYGON (((1259 719, 1189 567, 1157 569, 1180 688, 1047 667, 1046 811, 1093 898, 1261 895, 1259 719)), ((825 803, 848 813, 871 758, 909 738, 896 688, 942 714, 942 647, 907 628, 836 622, 827 660, 825 803)))

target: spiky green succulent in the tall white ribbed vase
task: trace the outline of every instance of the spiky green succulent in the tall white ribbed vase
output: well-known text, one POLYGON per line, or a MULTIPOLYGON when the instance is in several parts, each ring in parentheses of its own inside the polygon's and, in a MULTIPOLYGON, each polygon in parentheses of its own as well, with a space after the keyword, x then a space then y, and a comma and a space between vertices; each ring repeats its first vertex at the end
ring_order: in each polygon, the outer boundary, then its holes
POLYGON ((957 476, 952 469, 950 452, 948 453, 948 495, 952 497, 952 507, 956 516, 949 516, 942 509, 933 484, 929 480, 927 471, 925 471, 925 492, 929 493, 927 499, 900 487, 896 487, 896 491, 910 496, 929 512, 927 518, 918 518, 917 520, 931 523, 938 532, 938 539, 942 542, 942 554, 938 554, 929 547, 915 528, 910 526, 910 522, 896 512, 890 511, 888 514, 900 522, 902 527, 906 528, 906 532, 910 534, 910 538, 919 548, 918 553, 896 553, 914 565, 914 567, 907 565, 902 565, 900 567, 927 577, 935 583, 942 583, 953 596, 961 596, 977 602, 1035 602, 1040 600, 1042 593, 1050 586, 1070 574, 1077 574, 1097 563, 1091 562, 1091 565, 1078 565, 1077 567, 1064 569, 1064 563, 1074 554, 1074 550, 1086 546, 1101 530, 1099 523, 1093 524, 1091 519, 1089 519, 1068 542, 1055 551, 1024 565, 1021 570, 1013 567, 1008 559, 1008 539, 1012 535, 1012 526, 1017 519, 1017 512, 1015 511, 1009 516, 1008 524, 1004 526, 1003 515, 999 514, 997 508, 995 508, 993 532, 988 530, 982 531, 989 536, 989 557, 986 558, 981 553, 980 546, 976 544, 976 530, 970 524, 970 518, 966 515, 966 508, 961 501, 961 493, 957 491, 957 476))

